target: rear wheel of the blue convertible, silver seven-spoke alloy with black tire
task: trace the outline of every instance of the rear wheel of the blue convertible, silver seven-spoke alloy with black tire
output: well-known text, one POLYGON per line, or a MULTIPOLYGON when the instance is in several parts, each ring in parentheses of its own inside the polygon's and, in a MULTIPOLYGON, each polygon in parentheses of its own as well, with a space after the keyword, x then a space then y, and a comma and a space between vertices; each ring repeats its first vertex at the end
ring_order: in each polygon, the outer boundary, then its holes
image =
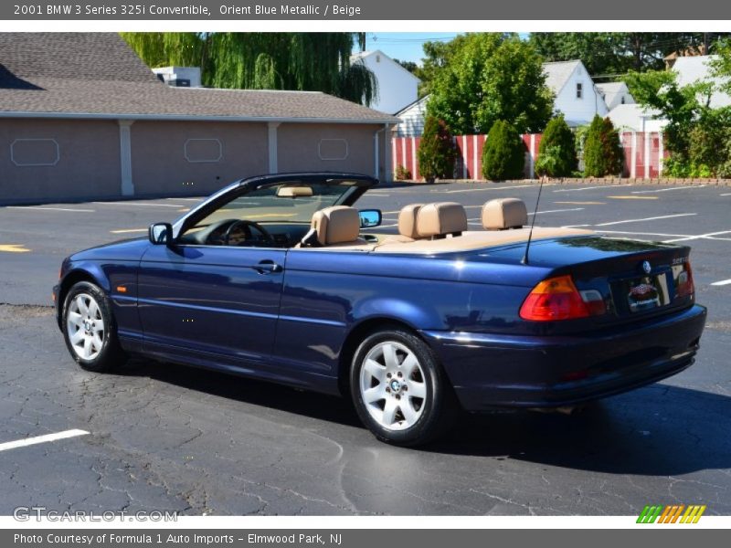
POLYGON ((429 346, 416 335, 388 330, 355 351, 351 394, 361 420, 378 439, 412 447, 451 425, 456 398, 429 346))

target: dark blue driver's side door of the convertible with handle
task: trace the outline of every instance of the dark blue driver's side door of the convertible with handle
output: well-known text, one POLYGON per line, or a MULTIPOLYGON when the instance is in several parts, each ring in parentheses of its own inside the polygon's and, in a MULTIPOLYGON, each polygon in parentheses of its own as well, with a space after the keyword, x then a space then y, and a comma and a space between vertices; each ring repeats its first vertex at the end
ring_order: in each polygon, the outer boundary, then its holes
POLYGON ((151 246, 139 270, 145 349, 264 363, 279 315, 286 251, 277 248, 151 246), (193 353, 193 354, 191 354, 193 353))

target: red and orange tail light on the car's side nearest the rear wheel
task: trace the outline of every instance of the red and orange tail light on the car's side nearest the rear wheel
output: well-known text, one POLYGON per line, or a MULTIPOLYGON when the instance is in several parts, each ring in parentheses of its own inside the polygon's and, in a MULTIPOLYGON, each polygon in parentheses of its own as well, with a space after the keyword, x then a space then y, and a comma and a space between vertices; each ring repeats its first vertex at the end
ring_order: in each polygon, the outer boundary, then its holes
POLYGON ((530 321, 574 320, 606 311, 599 291, 579 293, 570 276, 556 276, 535 286, 520 307, 520 317, 530 321))

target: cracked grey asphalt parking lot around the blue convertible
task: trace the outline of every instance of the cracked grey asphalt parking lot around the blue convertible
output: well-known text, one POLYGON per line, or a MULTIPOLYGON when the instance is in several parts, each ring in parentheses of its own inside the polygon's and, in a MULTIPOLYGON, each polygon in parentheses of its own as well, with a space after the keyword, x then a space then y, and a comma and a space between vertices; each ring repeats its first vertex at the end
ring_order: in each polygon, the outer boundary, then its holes
MULTIPOLYGON (((385 212, 457 201, 478 228, 487 199, 537 184, 380 188, 385 212)), ((638 514, 706 504, 731 514, 731 188, 546 185, 536 225, 693 248, 709 309, 693 367, 564 416, 464 416, 420 450, 376 442, 341 399, 133 361, 90 374, 50 305, 69 253, 181 216, 196 198, 0 207, 0 514, 48 510, 190 514, 638 514), (26 447, 16 441, 79 429, 26 447)))

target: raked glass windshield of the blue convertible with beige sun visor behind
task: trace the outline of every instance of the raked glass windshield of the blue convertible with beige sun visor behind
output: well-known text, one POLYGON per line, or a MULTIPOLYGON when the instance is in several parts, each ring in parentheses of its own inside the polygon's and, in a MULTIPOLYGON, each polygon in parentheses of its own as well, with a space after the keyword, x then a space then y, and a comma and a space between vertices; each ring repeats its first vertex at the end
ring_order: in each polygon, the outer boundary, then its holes
POLYGON ((354 188, 353 181, 306 184, 293 181, 271 184, 233 198, 200 219, 189 231, 226 219, 255 221, 260 224, 309 224, 316 211, 341 204, 354 188))

